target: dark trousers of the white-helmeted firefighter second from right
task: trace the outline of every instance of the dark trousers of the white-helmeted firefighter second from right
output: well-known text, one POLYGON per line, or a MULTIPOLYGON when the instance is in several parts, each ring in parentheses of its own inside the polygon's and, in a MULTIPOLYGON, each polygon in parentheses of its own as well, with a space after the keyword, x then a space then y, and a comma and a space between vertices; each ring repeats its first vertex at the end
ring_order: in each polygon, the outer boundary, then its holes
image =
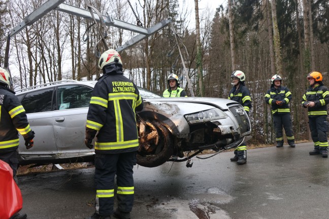
POLYGON ((276 141, 283 144, 283 132, 282 127, 287 136, 288 143, 294 142, 294 136, 291 125, 290 114, 275 114, 273 115, 273 123, 275 129, 276 141))

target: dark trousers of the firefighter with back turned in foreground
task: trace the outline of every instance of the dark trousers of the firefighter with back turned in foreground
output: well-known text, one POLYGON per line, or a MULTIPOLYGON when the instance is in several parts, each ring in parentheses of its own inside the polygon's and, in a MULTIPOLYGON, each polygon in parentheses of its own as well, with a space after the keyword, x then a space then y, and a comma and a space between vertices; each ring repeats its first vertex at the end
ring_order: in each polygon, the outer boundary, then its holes
POLYGON ((121 154, 95 154, 95 211, 99 215, 113 214, 114 177, 117 176, 118 209, 130 212, 134 203, 133 167, 136 152, 121 154))

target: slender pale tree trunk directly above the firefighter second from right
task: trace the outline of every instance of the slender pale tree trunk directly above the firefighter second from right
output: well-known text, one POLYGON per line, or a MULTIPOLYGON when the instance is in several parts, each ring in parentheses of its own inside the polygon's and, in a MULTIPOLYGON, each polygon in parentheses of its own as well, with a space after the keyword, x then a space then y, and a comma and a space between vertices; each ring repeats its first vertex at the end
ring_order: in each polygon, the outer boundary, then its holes
POLYGON ((272 23, 273 23, 273 38, 274 38, 274 51, 275 51, 275 68, 278 75, 282 75, 282 58, 280 46, 280 33, 278 28, 278 20, 276 15, 276 0, 272 0, 272 23))

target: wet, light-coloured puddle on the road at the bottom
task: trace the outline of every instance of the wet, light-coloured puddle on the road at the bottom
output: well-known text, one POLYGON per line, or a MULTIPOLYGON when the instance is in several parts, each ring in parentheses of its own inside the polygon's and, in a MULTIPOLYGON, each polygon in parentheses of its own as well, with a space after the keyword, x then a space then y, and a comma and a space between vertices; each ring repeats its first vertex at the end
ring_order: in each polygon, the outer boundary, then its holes
POLYGON ((214 204, 228 203, 232 196, 218 188, 210 188, 206 193, 191 195, 191 199, 173 198, 161 201, 156 208, 162 208, 180 219, 229 219, 229 215, 214 204))

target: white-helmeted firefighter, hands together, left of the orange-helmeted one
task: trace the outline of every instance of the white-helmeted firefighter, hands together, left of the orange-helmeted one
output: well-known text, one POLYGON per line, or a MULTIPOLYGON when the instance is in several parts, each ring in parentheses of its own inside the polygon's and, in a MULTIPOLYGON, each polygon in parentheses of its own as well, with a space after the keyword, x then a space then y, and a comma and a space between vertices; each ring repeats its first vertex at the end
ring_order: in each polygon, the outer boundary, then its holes
POLYGON ((271 78, 271 88, 265 95, 265 101, 271 105, 273 122, 276 134, 277 148, 283 146, 282 126, 287 136, 288 144, 291 148, 295 147, 294 136, 291 125, 291 116, 289 102, 291 100, 291 92, 288 88, 281 86, 282 79, 279 75, 271 78))

